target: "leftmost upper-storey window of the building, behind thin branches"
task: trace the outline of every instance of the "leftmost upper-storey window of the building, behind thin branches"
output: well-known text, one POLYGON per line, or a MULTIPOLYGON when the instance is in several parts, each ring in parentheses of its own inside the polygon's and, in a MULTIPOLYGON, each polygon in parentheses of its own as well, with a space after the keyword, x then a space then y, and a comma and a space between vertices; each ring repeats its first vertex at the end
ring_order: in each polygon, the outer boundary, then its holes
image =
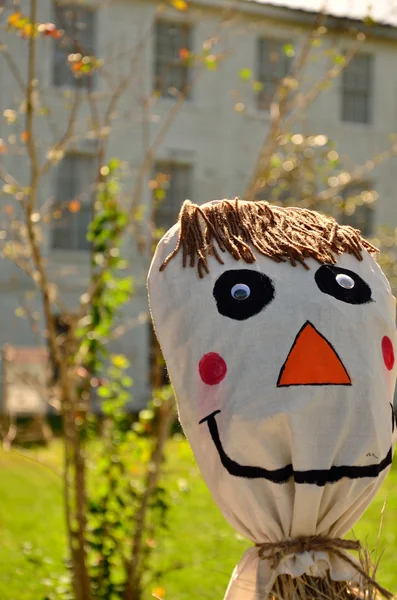
POLYGON ((95 55, 96 13, 82 6, 54 4, 54 20, 57 28, 65 33, 54 40, 53 84, 56 87, 75 87, 89 82, 95 85, 95 74, 74 77, 68 62, 69 54, 95 55))

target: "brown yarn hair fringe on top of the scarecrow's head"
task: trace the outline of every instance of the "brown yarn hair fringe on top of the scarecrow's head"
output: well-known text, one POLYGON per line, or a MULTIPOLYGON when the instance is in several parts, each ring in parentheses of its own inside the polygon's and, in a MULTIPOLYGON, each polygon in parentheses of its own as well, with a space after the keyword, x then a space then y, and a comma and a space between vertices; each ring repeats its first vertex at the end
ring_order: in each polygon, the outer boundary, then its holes
POLYGON ((358 229, 339 225, 333 217, 305 208, 285 208, 269 202, 220 200, 204 206, 183 203, 179 213, 179 236, 175 250, 160 267, 182 249, 182 264, 194 267, 202 278, 209 273, 208 257, 224 264, 221 253, 229 252, 236 260, 256 261, 255 251, 276 262, 298 263, 306 269, 307 258, 335 264, 341 254, 353 254, 362 260, 362 251, 379 252, 361 237, 358 229))

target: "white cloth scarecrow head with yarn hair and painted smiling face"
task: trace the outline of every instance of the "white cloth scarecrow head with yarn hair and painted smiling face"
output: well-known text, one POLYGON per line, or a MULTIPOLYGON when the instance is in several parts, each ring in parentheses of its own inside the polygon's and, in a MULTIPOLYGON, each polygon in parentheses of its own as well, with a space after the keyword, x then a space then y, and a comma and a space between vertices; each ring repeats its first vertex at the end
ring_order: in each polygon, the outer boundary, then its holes
POLYGON ((227 600, 391 596, 343 539, 396 442, 395 299, 376 252, 321 213, 239 199, 186 201, 157 247, 149 298, 179 417, 254 543, 227 600))

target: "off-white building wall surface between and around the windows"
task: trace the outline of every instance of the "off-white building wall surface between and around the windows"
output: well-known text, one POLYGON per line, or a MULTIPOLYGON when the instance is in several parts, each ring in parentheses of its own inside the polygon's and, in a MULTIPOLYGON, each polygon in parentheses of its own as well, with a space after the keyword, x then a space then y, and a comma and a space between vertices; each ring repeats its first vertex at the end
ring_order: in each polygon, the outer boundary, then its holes
MULTIPOLYGON (((95 9, 99 3, 90 2, 95 9)), ((21 3, 22 12, 27 10, 27 2, 21 3)), ((39 3, 42 21, 49 21, 51 2, 39 3)), ((224 53, 224 59, 217 70, 201 69, 195 77, 192 98, 186 101, 170 129, 156 147, 158 160, 189 162, 193 165, 193 186, 191 200, 202 203, 213 198, 241 195, 252 173, 257 153, 263 143, 270 123, 269 114, 256 109, 254 94, 250 85, 242 81, 240 70, 251 68, 255 71, 257 39, 270 36, 292 41, 297 46, 303 43, 309 29, 308 24, 294 22, 293 11, 284 11, 287 20, 269 18, 265 10, 255 14, 240 13, 226 15, 208 6, 198 5, 185 15, 171 8, 165 8, 161 18, 176 21, 188 20, 193 27, 193 51, 200 52, 203 42, 217 37, 214 52, 224 53), (263 14, 262 14, 263 13, 263 14), (236 112, 237 102, 243 102, 245 110, 236 112)), ((277 15, 281 14, 278 10, 277 15)), ((150 110, 144 113, 142 101, 152 89, 154 43, 150 34, 151 23, 156 17, 156 4, 149 0, 113 0, 104 3, 97 17, 97 56, 118 55, 107 69, 107 81, 115 89, 120 77, 131 68, 131 56, 135 52, 133 78, 128 91, 124 93, 113 122, 108 155, 118 156, 129 164, 128 175, 124 180, 126 201, 131 198, 131 190, 142 165, 142 156, 147 145, 156 140, 174 106, 171 99, 158 99, 150 110), (146 40, 146 41, 145 41, 146 40), (137 45, 141 48, 137 51, 137 45), (144 118, 149 114, 150 118, 144 118)), ((17 39, 13 34, 5 34, 10 54, 24 77, 27 71, 27 41, 17 39)), ((349 46, 349 38, 343 33, 330 33, 324 47, 331 47, 335 41, 341 49, 349 46)), ((305 134, 324 133, 337 143, 341 155, 346 154, 354 164, 364 163, 374 154, 384 150, 389 144, 389 135, 397 129, 395 90, 397 74, 393 68, 397 56, 397 41, 372 39, 365 50, 375 56, 375 78, 373 89, 373 122, 367 124, 344 123, 340 119, 340 80, 321 94, 299 124, 296 131, 305 134)), ((317 54, 323 54, 320 49, 317 54)), ((51 85, 53 45, 50 39, 38 43, 37 69, 40 81, 40 103, 47 107, 50 116, 37 118, 36 134, 40 140, 41 160, 45 159, 45 149, 52 143, 54 129, 64 130, 71 106, 71 93, 55 89, 51 85), (51 125, 51 126, 50 126, 51 125)), ((109 64, 109 63, 108 63, 109 64)), ((303 86, 309 88, 321 78, 326 68, 326 58, 318 58, 308 63, 303 86)), ((95 103, 99 114, 103 115, 109 100, 109 87, 100 80, 95 93, 95 103)), ((0 63, 0 109, 18 109, 22 94, 15 79, 10 75, 4 60, 0 63)), ((90 106, 86 98, 81 106, 76 123, 74 149, 91 151, 95 141, 89 134, 90 106)), ((6 169, 17 177, 23 185, 28 185, 27 160, 20 144, 11 144, 9 135, 19 138, 24 131, 23 117, 13 125, 0 120, 0 137, 9 146, 8 154, 1 160, 6 169), (18 149, 17 149, 18 146, 18 149)), ((394 200, 395 159, 386 162, 373 176, 375 189, 380 200, 376 207, 376 224, 397 225, 397 210, 394 200)), ((371 176, 372 177, 372 176, 371 176)), ((56 170, 50 170, 40 188, 40 203, 45 205, 54 196, 56 170)), ((182 202, 184 198, 180 198, 182 202)), ((0 197, 3 208, 9 203, 6 195, 0 197)), ((142 203, 149 214, 151 193, 144 186, 142 203)), ((145 233, 145 225, 141 232, 145 233)), ((62 302, 73 310, 78 306, 79 297, 84 292, 89 278, 88 254, 84 251, 61 251, 51 249, 48 227, 43 228, 43 248, 49 275, 59 289, 62 302)), ((136 283, 136 295, 124 310, 126 333, 113 343, 115 351, 124 352, 132 363, 131 373, 135 381, 135 405, 141 406, 148 398, 148 306, 145 280, 150 261, 148 249, 138 251, 134 236, 128 237, 126 253, 131 259, 130 272, 136 283)), ((0 346, 5 343, 36 345, 37 335, 31 332, 26 320, 15 315, 15 309, 23 302, 27 291, 34 286, 20 269, 11 262, 0 263, 0 346)), ((30 300, 35 310, 41 311, 39 298, 30 300)), ((42 323, 42 321, 41 321, 42 323)))

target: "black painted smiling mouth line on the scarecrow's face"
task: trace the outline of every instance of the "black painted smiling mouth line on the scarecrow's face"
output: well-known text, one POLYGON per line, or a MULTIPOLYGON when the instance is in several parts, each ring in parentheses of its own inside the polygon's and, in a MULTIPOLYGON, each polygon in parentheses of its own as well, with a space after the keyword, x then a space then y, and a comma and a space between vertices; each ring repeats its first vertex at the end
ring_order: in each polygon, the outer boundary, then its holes
MULTIPOLYGON (((293 479, 295 483, 306 483, 318 485, 320 487, 327 483, 336 483, 343 478, 361 479, 364 477, 376 478, 379 474, 392 463, 393 452, 390 447, 389 452, 383 460, 372 465, 364 465, 353 467, 348 465, 332 466, 330 469, 310 469, 308 471, 295 471, 291 464, 282 467, 281 469, 264 469, 263 467, 254 467, 248 465, 240 465, 238 462, 231 459, 225 452, 219 437, 218 425, 215 416, 220 413, 220 410, 201 419, 200 423, 207 422, 212 441, 218 451, 219 458, 225 469, 234 477, 243 477, 245 479, 267 479, 273 483, 286 483, 293 479)), ((392 422, 394 429, 394 412, 392 406, 392 422)))

